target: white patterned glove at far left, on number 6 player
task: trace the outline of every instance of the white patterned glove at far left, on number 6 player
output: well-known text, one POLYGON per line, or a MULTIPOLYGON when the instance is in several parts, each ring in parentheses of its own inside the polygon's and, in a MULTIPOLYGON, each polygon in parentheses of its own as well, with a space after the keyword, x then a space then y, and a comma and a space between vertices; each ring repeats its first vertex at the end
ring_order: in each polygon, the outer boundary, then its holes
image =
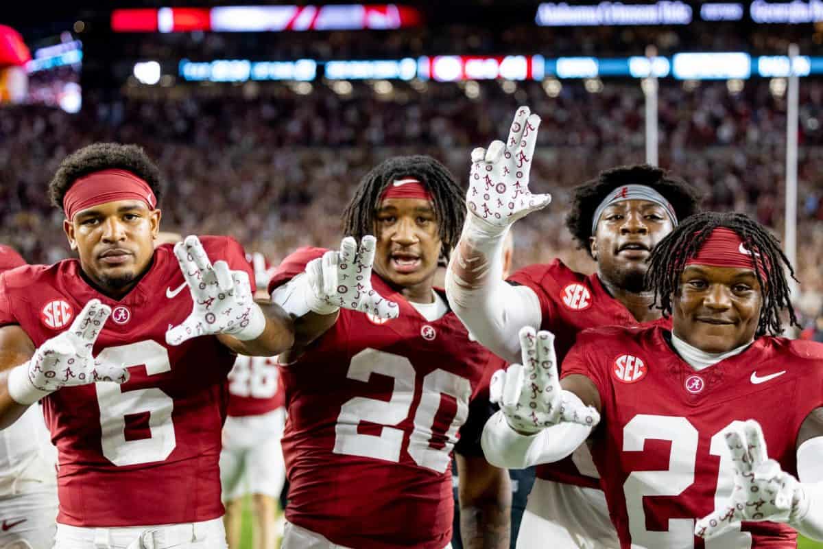
POLYGON ((123 365, 100 362, 91 355, 109 314, 111 309, 100 300, 86 303, 71 327, 45 341, 28 362, 9 372, 9 396, 28 405, 63 387, 128 381, 123 365))

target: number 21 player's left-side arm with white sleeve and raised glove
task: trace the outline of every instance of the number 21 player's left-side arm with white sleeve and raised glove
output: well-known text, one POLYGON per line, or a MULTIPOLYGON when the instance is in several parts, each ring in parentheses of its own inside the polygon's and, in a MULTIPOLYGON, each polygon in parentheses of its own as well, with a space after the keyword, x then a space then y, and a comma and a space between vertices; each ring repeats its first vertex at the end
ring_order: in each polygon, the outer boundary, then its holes
POLYGON ((498 370, 491 398, 500 412, 486 421, 481 444, 489 463, 526 468, 574 452, 600 422, 600 399, 584 375, 557 375, 554 334, 520 330, 521 364, 498 370))

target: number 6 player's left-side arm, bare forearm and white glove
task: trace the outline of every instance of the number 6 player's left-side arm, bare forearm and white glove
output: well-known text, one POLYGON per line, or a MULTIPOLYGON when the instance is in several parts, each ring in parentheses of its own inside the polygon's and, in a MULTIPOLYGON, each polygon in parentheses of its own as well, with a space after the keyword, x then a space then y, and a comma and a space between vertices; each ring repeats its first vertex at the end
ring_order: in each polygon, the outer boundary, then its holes
POLYGON ((65 332, 35 349, 19 326, 0 328, 0 427, 7 427, 26 407, 59 388, 98 382, 125 383, 123 365, 91 355, 111 309, 91 300, 65 332), (13 367, 12 367, 13 366, 13 367))

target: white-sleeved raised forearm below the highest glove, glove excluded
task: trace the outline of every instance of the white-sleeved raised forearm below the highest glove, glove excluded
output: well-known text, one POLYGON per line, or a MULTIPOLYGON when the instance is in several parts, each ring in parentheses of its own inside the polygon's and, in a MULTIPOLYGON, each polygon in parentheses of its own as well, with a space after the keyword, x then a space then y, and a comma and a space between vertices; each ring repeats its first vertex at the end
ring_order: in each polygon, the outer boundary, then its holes
POLYGON ((467 214, 446 271, 446 295, 454 314, 477 341, 516 362, 518 331, 526 325, 539 328, 541 313, 533 291, 503 280, 506 230, 467 214))

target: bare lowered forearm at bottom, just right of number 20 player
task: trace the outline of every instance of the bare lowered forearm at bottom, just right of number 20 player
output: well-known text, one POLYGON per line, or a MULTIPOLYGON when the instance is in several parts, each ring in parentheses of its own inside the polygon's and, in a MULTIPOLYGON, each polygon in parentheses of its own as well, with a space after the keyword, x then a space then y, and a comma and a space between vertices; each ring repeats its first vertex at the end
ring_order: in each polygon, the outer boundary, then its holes
POLYGON ((508 549, 512 491, 509 472, 481 456, 454 454, 458 466, 460 537, 466 549, 508 549))

